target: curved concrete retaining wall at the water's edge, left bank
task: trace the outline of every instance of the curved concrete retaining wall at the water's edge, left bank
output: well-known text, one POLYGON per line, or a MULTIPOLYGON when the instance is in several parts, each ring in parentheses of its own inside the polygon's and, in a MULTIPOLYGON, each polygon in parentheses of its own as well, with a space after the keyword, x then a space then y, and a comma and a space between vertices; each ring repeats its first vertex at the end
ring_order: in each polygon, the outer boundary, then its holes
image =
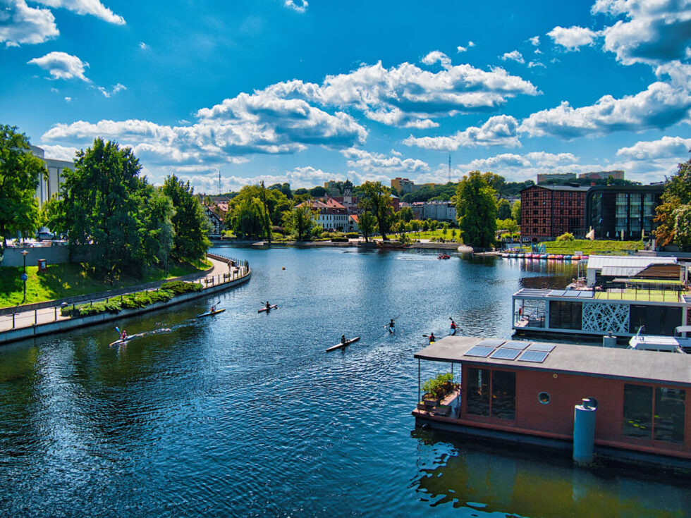
POLYGON ((71 329, 76 329, 85 326, 93 326, 97 323, 109 322, 113 320, 123 319, 128 316, 156 311, 157 309, 173 306, 175 304, 181 304, 181 302, 188 302, 189 300, 206 297, 207 295, 212 295, 213 293, 226 290, 228 288, 233 288, 240 284, 246 283, 247 280, 250 280, 251 276, 252 271, 249 270, 247 271, 246 276, 238 278, 236 280, 231 280, 227 283, 217 284, 209 288, 204 288, 204 290, 200 292, 185 293, 183 295, 178 295, 178 297, 174 297, 168 302, 157 302, 156 304, 152 304, 150 306, 137 309, 122 309, 117 314, 102 313, 94 316, 83 316, 77 319, 59 320, 56 322, 39 324, 37 326, 5 331, 4 333, 0 333, 0 344, 15 342, 16 340, 25 340, 26 338, 36 338, 38 336, 61 333, 63 331, 69 331, 71 329))

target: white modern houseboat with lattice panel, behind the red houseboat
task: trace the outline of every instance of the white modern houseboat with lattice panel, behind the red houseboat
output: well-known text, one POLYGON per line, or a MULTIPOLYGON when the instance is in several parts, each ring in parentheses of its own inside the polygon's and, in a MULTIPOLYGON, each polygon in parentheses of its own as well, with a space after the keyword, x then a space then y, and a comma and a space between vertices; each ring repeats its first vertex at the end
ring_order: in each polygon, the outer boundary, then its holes
POLYGON ((641 326, 672 336, 690 321, 687 266, 670 257, 589 257, 562 290, 513 294, 513 328, 525 335, 631 337, 641 326))

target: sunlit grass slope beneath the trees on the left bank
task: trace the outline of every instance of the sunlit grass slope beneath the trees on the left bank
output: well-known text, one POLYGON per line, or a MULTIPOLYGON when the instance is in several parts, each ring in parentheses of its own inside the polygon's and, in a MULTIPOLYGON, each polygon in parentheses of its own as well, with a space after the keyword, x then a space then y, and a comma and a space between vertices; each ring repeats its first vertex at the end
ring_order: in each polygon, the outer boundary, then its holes
MULTIPOLYGON (((202 265, 207 269, 211 263, 202 265)), ((21 266, 0 267, 0 307, 16 306, 24 298, 21 266)), ((116 290, 137 284, 150 283, 154 280, 165 280, 200 271, 190 264, 169 264, 169 274, 161 269, 152 269, 145 278, 121 278, 111 285, 104 280, 89 275, 82 264, 51 264, 47 271, 38 271, 38 266, 27 266, 26 304, 44 302, 45 300, 87 295, 106 290, 116 290)))

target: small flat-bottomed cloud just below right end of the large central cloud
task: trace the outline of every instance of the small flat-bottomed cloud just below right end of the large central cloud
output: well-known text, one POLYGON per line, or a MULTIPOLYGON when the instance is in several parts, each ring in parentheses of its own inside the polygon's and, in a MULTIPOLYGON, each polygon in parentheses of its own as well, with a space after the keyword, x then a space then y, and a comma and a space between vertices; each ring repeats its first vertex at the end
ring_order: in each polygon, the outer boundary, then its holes
POLYGON ((436 151, 455 151, 459 147, 506 146, 520 147, 518 121, 509 115, 490 117, 481 127, 471 126, 451 137, 413 137, 403 140, 406 146, 436 151))

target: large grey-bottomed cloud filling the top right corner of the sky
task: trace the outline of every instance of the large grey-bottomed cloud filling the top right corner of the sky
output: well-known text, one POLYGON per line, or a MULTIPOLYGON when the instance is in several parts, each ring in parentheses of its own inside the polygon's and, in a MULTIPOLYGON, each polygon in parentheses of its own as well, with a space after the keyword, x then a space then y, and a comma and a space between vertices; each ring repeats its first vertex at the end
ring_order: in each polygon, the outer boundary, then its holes
POLYGON ((597 0, 591 11, 625 18, 603 30, 604 49, 625 65, 688 57, 689 0, 597 0))

